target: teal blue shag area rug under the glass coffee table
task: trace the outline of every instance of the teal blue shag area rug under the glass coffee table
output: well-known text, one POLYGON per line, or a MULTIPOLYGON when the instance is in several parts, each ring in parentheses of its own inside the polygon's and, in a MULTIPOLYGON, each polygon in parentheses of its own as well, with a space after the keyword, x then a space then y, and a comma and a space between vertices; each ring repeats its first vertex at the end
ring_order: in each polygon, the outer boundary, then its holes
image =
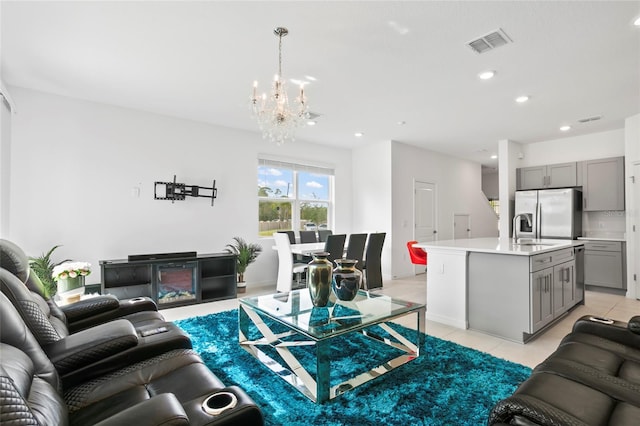
MULTIPOLYGON (((528 367, 427 335, 417 359, 315 404, 240 347, 237 310, 176 324, 227 386, 238 385, 253 398, 267 425, 485 425, 491 408, 531 373, 528 367)), ((376 328, 377 334, 386 334, 376 328)), ((250 332, 249 338, 258 337, 250 332)), ((292 352, 315 378, 313 350, 314 346, 300 346, 292 352)), ((360 333, 336 337, 331 386, 399 354, 360 333)), ((270 356, 282 363, 277 355, 270 356)))

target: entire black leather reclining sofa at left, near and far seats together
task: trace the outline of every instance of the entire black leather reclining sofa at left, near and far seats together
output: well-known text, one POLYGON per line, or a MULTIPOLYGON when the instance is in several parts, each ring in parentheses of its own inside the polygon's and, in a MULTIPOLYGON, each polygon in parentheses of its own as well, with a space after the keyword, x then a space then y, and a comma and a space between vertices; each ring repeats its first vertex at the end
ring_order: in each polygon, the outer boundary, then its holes
POLYGON ((60 309, 28 259, 0 240, 0 424, 262 425, 148 298, 60 309), (147 334, 158 327, 166 331, 147 334))

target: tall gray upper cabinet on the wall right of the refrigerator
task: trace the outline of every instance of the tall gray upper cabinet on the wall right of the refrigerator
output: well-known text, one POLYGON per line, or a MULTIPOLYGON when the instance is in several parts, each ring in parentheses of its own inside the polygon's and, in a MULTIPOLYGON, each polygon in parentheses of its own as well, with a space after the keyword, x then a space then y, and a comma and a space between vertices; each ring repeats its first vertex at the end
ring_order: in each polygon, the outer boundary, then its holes
POLYGON ((624 157, 582 162, 585 211, 624 210, 624 157))

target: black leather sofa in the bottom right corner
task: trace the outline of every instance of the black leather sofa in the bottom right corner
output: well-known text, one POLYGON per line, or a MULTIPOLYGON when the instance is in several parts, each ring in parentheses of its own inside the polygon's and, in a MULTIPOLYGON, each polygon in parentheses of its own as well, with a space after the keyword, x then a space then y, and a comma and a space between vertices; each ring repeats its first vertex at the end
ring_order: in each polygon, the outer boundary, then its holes
POLYGON ((488 424, 640 424, 640 316, 606 322, 580 318, 488 424))

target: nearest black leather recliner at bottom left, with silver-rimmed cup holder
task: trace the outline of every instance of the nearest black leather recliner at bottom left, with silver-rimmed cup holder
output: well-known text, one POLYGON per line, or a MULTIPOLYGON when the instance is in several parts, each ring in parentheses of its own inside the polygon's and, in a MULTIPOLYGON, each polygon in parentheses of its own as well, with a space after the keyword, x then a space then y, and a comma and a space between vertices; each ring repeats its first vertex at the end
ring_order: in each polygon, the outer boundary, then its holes
POLYGON ((65 386, 0 293, 0 424, 262 425, 263 418, 242 389, 225 387, 190 349, 65 386))

